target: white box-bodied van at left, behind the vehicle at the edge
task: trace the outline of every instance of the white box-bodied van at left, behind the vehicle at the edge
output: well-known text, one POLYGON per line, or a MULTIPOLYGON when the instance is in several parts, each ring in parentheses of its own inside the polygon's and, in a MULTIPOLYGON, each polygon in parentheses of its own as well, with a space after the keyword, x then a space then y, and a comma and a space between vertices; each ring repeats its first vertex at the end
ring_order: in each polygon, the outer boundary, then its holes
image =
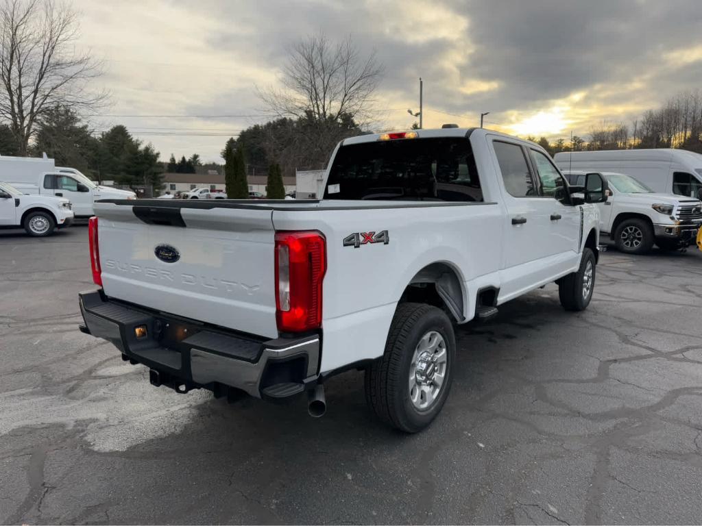
POLYGON ((0 156, 0 181, 25 194, 67 198, 77 218, 95 215, 93 203, 100 199, 136 198, 133 191, 99 186, 75 168, 57 168, 46 157, 0 156))

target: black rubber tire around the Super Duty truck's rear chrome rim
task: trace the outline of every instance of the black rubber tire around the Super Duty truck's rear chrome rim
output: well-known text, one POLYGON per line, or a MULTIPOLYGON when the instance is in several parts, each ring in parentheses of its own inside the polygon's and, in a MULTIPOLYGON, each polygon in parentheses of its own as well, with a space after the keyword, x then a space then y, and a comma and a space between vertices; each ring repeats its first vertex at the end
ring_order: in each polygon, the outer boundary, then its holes
MULTIPOLYGON (((436 354, 428 351, 429 356, 443 355, 441 348, 439 345, 436 354)), ((406 433, 421 431, 444 407, 451 390, 455 359, 456 337, 453 335, 453 325, 444 311, 421 303, 399 304, 392 318, 385 353, 366 369, 366 402, 378 418, 390 426, 406 433), (443 382, 428 407, 420 409, 412 401, 413 389, 408 379, 420 340, 429 337, 428 341, 431 342, 433 332, 443 339, 446 360, 435 369, 439 371, 443 365, 443 382)), ((417 392, 421 391, 418 385, 415 386, 417 392)), ((428 384, 428 389, 432 389, 432 384, 428 384)), ((421 403, 421 395, 418 400, 421 403)))

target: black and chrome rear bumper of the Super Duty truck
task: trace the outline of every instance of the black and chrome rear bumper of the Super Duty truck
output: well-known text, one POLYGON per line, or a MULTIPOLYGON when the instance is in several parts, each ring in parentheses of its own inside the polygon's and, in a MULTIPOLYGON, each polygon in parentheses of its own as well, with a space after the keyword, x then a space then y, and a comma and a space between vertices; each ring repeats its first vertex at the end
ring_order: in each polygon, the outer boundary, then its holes
POLYGON ((178 392, 231 389, 287 398, 317 382, 319 335, 265 339, 118 302, 102 290, 79 295, 83 332, 106 339, 124 360, 153 371, 154 385, 178 392), (145 329, 137 337, 135 328, 145 329), (155 373, 157 374, 155 374, 155 373))

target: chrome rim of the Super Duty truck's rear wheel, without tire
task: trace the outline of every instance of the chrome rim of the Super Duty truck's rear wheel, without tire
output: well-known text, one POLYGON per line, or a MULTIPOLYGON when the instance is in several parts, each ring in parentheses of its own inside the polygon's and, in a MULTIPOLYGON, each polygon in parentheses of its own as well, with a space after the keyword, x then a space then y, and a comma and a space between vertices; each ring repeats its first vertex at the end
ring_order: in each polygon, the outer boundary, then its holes
POLYGON ((441 393, 446 377, 446 342, 435 330, 417 344, 409 366, 409 398, 418 410, 427 410, 441 393))

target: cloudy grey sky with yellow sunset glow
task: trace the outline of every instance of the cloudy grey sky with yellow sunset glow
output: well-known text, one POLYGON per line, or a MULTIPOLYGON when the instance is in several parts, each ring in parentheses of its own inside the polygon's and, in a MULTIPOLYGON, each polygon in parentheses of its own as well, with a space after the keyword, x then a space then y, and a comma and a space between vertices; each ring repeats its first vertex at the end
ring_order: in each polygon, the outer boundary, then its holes
POLYGON ((408 128, 424 79, 424 126, 587 135, 702 88, 700 0, 74 0, 79 45, 105 63, 112 105, 161 158, 218 160, 225 135, 263 122, 291 43, 324 32, 375 51, 377 126, 408 128), (197 116, 197 117, 195 117, 197 116), (191 134, 191 135, 184 135, 191 134), (199 134, 199 135, 195 135, 199 134))

